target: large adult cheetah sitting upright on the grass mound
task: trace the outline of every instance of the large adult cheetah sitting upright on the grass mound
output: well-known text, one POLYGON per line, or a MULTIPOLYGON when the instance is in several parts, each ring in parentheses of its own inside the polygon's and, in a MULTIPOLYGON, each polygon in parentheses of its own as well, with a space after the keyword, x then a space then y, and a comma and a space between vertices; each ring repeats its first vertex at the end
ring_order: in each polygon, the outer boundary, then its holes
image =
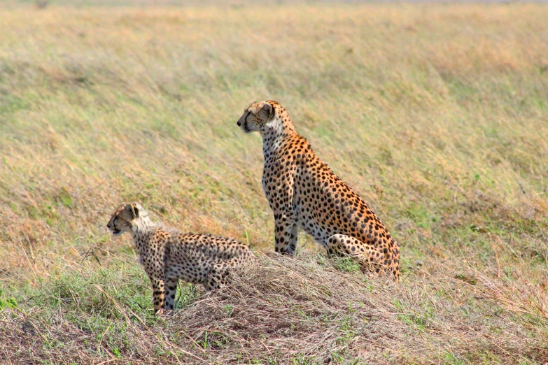
POLYGON ((301 227, 329 255, 349 255, 363 271, 382 271, 398 280, 398 244, 367 203, 295 131, 285 108, 276 101, 256 101, 237 124, 262 137, 262 188, 274 211, 276 252, 294 254, 301 227))

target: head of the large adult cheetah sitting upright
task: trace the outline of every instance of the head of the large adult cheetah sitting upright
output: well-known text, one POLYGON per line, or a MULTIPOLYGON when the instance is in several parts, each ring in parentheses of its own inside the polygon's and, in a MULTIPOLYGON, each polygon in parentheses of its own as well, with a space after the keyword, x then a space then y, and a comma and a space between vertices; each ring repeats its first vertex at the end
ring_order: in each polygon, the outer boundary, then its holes
POLYGON ((276 118, 276 101, 255 101, 244 110, 237 124, 242 131, 251 133, 259 131, 260 134, 268 134, 269 131, 281 127, 279 118, 276 118))

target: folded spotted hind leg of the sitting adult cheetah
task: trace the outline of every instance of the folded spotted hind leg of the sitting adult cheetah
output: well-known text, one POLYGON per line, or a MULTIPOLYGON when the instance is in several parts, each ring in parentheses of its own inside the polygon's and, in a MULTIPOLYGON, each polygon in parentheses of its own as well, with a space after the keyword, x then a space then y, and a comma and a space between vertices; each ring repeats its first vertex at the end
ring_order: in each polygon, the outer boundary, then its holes
POLYGON ((381 263, 384 255, 351 236, 334 234, 327 239, 325 249, 328 251, 328 255, 351 257, 356 260, 360 264, 361 271, 365 274, 379 273, 381 269, 384 269, 384 265, 381 263))

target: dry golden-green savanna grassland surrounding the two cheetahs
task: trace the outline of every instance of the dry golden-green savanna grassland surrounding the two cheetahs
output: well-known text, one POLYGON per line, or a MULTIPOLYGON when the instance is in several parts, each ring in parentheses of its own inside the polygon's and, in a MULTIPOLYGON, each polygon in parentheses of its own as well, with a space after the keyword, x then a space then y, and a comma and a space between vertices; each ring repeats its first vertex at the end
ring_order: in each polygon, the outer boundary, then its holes
POLYGON ((0 10, 2 364, 548 362, 548 7, 146 1, 0 10), (113 5, 113 6, 112 6, 113 5), (274 257, 274 99, 400 243, 368 280, 274 257), (259 271, 155 318, 122 201, 259 271))

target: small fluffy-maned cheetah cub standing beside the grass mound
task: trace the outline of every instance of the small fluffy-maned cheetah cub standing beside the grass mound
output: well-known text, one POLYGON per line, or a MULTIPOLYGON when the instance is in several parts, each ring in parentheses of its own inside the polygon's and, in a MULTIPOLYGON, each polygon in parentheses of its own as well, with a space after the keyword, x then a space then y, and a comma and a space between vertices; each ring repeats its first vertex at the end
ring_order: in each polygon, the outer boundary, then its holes
POLYGON ((183 234, 155 224, 139 203, 124 203, 106 227, 114 236, 132 234, 153 287, 154 311, 173 310, 178 280, 217 289, 232 267, 255 263, 251 248, 232 238, 183 234))

